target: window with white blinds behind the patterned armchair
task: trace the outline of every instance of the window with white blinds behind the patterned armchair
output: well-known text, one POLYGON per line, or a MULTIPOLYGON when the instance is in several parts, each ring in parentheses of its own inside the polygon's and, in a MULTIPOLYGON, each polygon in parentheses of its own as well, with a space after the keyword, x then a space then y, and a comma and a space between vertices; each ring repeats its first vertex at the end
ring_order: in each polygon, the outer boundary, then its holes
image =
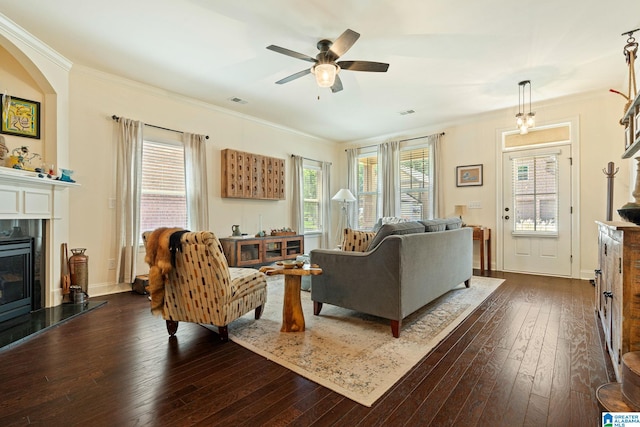
POLYGON ((140 230, 183 227, 187 224, 187 196, 182 145, 144 141, 140 230))

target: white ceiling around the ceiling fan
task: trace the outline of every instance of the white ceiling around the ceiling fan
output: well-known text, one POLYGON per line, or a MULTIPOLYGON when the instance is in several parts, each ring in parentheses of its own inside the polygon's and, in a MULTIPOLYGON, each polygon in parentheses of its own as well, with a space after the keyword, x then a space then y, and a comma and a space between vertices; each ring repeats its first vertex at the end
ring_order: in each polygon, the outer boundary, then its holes
POLYGON ((76 64, 335 141, 515 114, 525 79, 534 107, 626 92, 621 33, 640 27, 638 0, 0 0, 0 12, 76 64), (274 84, 310 64, 266 46, 315 57, 347 28, 361 37, 341 60, 387 73, 342 71, 336 94, 312 75, 274 84))

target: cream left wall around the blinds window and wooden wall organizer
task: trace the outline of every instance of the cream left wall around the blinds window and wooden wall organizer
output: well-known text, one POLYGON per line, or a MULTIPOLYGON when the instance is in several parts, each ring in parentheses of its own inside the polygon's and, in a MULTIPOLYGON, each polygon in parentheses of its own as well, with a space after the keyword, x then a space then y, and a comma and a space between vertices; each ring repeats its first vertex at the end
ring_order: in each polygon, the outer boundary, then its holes
MULTIPOLYGON (((291 226, 291 186, 286 200, 223 199, 220 197, 220 151, 234 148, 286 159, 291 175, 292 154, 339 164, 344 156, 337 144, 303 135, 249 117, 168 93, 143 84, 123 80, 95 70, 74 66, 70 75, 70 161, 74 179, 81 184, 70 195, 70 247, 87 248, 89 256, 89 294, 130 290, 115 284, 115 270, 108 260, 116 258, 114 241, 116 114, 171 129, 209 135, 207 168, 210 176, 210 228, 218 236, 231 234, 231 225, 240 224, 246 233, 258 231, 259 215, 263 228, 291 226)), ((333 180, 331 194, 340 186, 333 180)), ((306 242, 305 249, 315 246, 306 242)), ((142 259, 143 257, 140 257, 142 259)), ((141 272, 146 266, 139 264, 141 272)))

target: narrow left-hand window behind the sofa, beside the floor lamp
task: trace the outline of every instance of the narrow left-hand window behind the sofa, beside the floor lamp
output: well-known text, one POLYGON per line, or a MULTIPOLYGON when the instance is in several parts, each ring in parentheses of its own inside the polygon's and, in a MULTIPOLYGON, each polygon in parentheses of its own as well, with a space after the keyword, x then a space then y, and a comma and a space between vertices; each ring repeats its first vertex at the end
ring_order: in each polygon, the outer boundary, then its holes
POLYGON ((358 156, 358 228, 372 229, 378 220, 378 154, 358 156))

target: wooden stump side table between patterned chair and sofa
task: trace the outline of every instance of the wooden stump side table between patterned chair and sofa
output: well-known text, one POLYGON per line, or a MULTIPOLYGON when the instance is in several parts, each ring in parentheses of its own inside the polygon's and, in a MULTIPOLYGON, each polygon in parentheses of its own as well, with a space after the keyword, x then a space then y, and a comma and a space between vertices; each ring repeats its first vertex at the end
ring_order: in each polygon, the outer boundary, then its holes
POLYGON ((302 276, 317 276, 322 269, 317 265, 305 264, 302 268, 284 268, 282 266, 264 266, 260 271, 267 276, 284 275, 284 301, 282 302, 282 328, 280 332, 303 332, 304 313, 300 301, 302 276))

